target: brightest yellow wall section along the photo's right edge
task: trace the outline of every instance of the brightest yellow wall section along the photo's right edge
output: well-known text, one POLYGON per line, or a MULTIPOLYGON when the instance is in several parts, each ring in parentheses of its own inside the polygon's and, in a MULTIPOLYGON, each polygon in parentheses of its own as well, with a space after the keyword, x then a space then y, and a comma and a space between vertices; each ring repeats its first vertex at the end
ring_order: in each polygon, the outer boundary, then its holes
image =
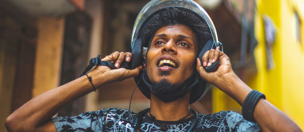
MULTIPOLYGON (((282 1, 282 111, 304 129, 304 52, 303 39, 296 39, 295 12, 303 22, 303 1, 282 1), (284 5, 284 6, 283 6, 284 5)), ((303 24, 301 24, 303 26, 303 24)), ((303 31, 303 27, 301 27, 303 31)), ((303 33, 303 32, 302 32, 303 33)), ((303 38, 303 34, 301 36, 303 38)))

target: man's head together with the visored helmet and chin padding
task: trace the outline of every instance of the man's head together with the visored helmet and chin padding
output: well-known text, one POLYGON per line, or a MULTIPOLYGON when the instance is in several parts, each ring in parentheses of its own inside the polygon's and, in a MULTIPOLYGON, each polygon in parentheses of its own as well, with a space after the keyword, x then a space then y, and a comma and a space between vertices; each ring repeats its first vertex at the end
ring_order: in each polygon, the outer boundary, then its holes
POLYGON ((135 20, 131 42, 133 68, 142 64, 141 55, 146 56, 146 70, 134 77, 141 92, 149 99, 152 92, 163 102, 171 102, 191 90, 189 103, 199 100, 208 84, 196 72, 196 58, 209 48, 204 47, 207 41, 217 45, 216 30, 194 1, 146 4, 135 20))

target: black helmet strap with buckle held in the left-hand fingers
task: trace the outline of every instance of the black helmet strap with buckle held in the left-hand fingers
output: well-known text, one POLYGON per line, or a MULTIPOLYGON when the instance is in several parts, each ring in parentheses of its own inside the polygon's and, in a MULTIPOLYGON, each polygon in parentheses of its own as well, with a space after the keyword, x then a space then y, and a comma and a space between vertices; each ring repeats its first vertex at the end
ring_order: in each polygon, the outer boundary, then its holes
MULTIPOLYGON (((102 61, 100 59, 100 54, 98 54, 97 57, 95 58, 91 58, 91 60, 89 61, 89 65, 86 67, 86 69, 84 70, 84 72, 82 73, 81 76, 84 76, 87 72, 89 72, 95 65, 104 65, 104 66, 107 66, 109 67, 110 69, 117 69, 115 67, 115 64, 111 62, 111 60, 108 60, 108 61, 102 61)), ((121 67, 120 68, 125 68, 125 69, 130 69, 131 68, 131 63, 130 62, 126 62, 124 61, 122 64, 121 64, 121 67)))

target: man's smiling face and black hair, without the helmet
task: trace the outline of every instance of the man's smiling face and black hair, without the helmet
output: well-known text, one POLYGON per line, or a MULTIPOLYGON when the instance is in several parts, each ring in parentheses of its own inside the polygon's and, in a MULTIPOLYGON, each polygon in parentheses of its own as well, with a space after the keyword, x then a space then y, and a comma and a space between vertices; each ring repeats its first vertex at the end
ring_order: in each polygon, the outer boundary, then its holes
POLYGON ((151 82, 181 84, 192 75, 203 44, 211 38, 208 25, 193 12, 166 8, 156 14, 146 31, 146 55, 151 82))

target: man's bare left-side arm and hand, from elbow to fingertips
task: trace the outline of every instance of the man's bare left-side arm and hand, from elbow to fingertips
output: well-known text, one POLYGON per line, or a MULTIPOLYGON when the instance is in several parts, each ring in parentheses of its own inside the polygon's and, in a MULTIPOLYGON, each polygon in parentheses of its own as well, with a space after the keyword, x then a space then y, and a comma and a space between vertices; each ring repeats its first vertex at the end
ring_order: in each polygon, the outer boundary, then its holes
MULTIPOLYGON (((114 52, 103 61, 111 60, 117 68, 123 61, 130 62, 132 54, 127 52, 114 52)), ((98 65, 88 73, 92 83, 98 87, 102 84, 121 81, 138 76, 142 66, 134 70, 119 68, 111 70, 106 66, 98 65)), ((5 121, 9 131, 56 131, 50 120, 63 106, 93 91, 92 85, 86 76, 82 76, 69 83, 42 93, 13 112, 5 121), (20 123, 26 122, 26 123, 20 123)))

